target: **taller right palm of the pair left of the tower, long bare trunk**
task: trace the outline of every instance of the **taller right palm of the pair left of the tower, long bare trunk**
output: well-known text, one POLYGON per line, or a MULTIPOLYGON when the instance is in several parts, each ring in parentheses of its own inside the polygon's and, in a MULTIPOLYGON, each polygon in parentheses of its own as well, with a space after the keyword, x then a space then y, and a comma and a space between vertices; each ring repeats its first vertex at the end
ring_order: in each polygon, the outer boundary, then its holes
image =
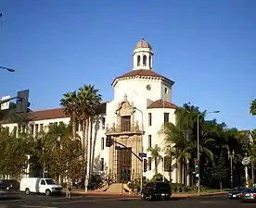
MULTIPOLYGON (((79 104, 79 114, 81 115, 80 119, 83 122, 83 146, 84 146, 84 163, 85 163, 85 177, 89 174, 90 176, 90 169, 89 173, 87 172, 87 165, 88 165, 88 136, 89 136, 89 126, 93 123, 93 117, 96 115, 96 109, 100 105, 101 102, 101 95, 98 93, 98 90, 95 88, 94 85, 83 85, 82 88, 79 89, 77 94, 78 97, 78 104, 79 104)), ((92 147, 93 142, 93 135, 90 134, 90 148, 92 147)), ((91 153, 92 150, 90 149, 90 158, 89 158, 89 166, 91 166, 91 153)))

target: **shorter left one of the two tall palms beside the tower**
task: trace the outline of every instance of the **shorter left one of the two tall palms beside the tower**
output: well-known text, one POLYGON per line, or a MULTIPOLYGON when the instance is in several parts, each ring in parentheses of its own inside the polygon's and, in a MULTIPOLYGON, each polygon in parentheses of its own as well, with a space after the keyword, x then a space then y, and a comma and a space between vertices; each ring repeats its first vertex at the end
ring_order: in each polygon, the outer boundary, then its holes
POLYGON ((63 94, 63 98, 60 100, 60 105, 64 107, 64 113, 66 116, 70 116, 70 124, 72 128, 72 136, 76 137, 76 121, 78 113, 78 100, 77 93, 67 92, 63 94))

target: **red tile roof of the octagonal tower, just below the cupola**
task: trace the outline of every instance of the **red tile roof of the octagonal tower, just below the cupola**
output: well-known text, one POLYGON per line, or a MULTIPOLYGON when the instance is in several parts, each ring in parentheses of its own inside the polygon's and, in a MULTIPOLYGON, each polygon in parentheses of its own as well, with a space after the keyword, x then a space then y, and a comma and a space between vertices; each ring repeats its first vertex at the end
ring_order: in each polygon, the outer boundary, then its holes
POLYGON ((152 70, 147 70, 147 69, 139 69, 139 70, 132 70, 122 76, 117 77, 115 80, 113 80, 111 85, 115 85, 117 80, 120 79, 129 79, 129 78, 155 78, 155 79, 161 79, 161 80, 166 80, 168 82, 171 82, 174 84, 173 80, 170 80, 152 70))

